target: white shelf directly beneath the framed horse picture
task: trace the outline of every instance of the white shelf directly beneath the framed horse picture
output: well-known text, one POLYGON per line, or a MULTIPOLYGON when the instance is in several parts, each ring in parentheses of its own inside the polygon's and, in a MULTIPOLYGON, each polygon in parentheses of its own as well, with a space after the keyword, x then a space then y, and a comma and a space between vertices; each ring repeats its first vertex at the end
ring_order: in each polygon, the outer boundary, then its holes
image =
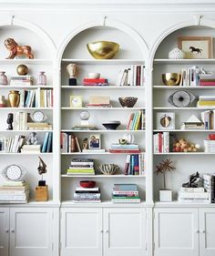
POLYGON ((154 64, 214 64, 215 58, 205 59, 169 59, 169 58, 155 58, 154 64))

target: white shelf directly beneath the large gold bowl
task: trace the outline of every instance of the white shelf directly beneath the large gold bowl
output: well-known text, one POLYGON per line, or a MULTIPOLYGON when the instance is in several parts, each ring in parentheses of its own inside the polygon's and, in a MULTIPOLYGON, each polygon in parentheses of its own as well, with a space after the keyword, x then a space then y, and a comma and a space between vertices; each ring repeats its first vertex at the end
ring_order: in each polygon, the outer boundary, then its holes
POLYGON ((73 62, 79 65, 143 65, 144 60, 141 59, 73 59, 73 58, 63 58, 62 63, 73 62))

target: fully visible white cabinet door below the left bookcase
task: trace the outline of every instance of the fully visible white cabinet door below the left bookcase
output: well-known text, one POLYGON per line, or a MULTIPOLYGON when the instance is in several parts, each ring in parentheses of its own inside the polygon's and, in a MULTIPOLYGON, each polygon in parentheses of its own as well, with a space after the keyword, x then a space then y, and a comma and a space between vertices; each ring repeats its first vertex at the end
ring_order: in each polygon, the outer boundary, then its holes
POLYGON ((52 210, 10 209, 10 255, 52 255, 52 210))

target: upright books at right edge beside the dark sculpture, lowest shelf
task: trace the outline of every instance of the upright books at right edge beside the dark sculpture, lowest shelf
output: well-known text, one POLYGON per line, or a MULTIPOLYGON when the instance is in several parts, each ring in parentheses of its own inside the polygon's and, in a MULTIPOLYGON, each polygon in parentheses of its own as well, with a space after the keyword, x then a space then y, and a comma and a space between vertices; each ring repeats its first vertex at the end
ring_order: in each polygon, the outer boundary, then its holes
POLYGON ((215 203, 215 174, 203 173, 203 187, 209 193, 209 202, 215 203))

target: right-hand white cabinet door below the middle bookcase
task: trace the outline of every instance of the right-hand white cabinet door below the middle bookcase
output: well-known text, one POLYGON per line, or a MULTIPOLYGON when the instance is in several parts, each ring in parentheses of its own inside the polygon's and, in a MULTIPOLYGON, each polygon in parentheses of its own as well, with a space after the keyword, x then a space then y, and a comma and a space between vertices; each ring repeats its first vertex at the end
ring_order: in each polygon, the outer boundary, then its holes
POLYGON ((104 255, 146 255, 146 210, 104 209, 104 255))

